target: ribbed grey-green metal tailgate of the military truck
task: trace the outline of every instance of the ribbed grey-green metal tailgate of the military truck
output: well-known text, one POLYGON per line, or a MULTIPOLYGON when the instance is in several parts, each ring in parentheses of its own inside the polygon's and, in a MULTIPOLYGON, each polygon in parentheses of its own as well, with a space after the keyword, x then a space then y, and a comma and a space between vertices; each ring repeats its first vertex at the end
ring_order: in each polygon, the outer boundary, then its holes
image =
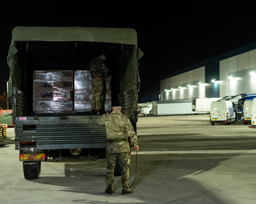
POLYGON ((26 149, 21 142, 36 142, 33 149, 106 148, 106 128, 97 123, 98 117, 16 117, 15 149, 26 149))

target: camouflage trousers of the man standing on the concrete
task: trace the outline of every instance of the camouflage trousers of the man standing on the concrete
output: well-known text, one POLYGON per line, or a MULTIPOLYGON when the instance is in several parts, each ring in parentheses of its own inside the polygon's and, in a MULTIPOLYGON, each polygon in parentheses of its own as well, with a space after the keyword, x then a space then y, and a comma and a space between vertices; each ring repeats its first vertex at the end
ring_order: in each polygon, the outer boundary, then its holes
POLYGON ((105 181, 107 182, 106 185, 113 186, 114 184, 114 170, 116 166, 116 161, 119 161, 121 166, 121 182, 122 188, 127 189, 129 188, 128 178, 129 178, 129 167, 131 162, 131 155, 130 152, 120 152, 114 154, 107 153, 107 175, 105 181))

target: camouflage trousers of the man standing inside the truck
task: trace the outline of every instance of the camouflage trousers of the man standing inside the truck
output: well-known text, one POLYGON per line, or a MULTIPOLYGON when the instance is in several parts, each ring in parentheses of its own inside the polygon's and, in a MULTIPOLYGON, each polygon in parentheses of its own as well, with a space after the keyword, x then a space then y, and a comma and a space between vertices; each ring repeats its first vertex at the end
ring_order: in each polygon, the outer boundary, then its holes
POLYGON ((91 109, 92 110, 100 110, 102 108, 103 101, 103 78, 92 78, 92 101, 91 101, 91 109))

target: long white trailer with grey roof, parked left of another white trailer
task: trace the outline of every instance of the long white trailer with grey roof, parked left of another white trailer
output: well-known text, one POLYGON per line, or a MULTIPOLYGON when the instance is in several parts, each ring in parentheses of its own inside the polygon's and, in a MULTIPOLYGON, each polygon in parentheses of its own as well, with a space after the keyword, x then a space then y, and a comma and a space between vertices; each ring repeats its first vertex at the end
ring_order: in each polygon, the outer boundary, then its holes
POLYGON ((192 111, 191 106, 192 99, 153 101, 153 115, 160 116, 202 114, 202 112, 192 111))

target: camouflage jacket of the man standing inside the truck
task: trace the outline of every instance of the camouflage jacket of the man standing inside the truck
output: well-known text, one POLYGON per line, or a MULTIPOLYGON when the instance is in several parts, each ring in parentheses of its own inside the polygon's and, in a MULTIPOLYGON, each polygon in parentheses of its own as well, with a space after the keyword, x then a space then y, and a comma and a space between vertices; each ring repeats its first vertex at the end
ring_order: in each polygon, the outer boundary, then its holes
POLYGON ((108 75, 108 68, 100 57, 97 57, 90 62, 89 69, 92 77, 101 76, 105 78, 108 75))

